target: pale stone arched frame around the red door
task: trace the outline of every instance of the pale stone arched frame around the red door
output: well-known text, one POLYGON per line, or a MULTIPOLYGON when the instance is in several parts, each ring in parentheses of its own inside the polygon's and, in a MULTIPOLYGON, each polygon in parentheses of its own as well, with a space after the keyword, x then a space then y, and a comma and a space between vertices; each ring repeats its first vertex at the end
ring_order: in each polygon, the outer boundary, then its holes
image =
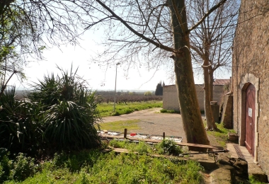
POLYGON ((240 131, 239 131, 239 145, 245 146, 246 141, 246 88, 248 88, 249 84, 253 84, 256 88, 255 95, 255 141, 254 141, 254 157, 253 161, 258 161, 257 147, 258 147, 258 117, 259 117, 259 105, 258 105, 258 91, 259 91, 259 79, 253 74, 246 74, 241 78, 240 88, 241 88, 241 100, 239 100, 239 107, 241 106, 241 121, 239 120, 240 131))

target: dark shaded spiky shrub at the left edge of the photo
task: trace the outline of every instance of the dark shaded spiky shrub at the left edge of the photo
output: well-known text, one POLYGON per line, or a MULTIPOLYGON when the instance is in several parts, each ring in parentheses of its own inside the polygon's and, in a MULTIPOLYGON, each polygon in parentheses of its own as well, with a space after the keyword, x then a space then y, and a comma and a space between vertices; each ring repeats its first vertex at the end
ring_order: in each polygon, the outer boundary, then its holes
POLYGON ((45 130, 40 105, 15 100, 15 96, 15 87, 11 87, 0 98, 0 147, 11 153, 37 154, 44 145, 45 130))

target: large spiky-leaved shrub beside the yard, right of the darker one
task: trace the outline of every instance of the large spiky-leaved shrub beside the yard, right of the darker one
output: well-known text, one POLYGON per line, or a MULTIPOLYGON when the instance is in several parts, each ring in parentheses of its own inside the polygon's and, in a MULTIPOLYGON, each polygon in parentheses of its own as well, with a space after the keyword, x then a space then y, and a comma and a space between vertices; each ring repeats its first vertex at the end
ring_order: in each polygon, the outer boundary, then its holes
MULTIPOLYGON (((59 69, 59 67, 58 67, 59 69)), ((32 85, 28 98, 43 105, 45 138, 50 148, 74 150, 100 145, 98 132, 101 121, 97 110, 95 93, 86 87, 86 81, 76 75, 72 68, 52 74, 32 85)))

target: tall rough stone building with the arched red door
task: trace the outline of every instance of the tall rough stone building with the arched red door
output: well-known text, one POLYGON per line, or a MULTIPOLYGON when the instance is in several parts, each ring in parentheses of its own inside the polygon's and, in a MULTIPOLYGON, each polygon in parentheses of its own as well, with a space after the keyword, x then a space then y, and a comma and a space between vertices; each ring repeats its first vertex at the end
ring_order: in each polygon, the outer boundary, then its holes
POLYGON ((269 175, 269 4, 241 0, 233 45, 233 127, 269 175))

